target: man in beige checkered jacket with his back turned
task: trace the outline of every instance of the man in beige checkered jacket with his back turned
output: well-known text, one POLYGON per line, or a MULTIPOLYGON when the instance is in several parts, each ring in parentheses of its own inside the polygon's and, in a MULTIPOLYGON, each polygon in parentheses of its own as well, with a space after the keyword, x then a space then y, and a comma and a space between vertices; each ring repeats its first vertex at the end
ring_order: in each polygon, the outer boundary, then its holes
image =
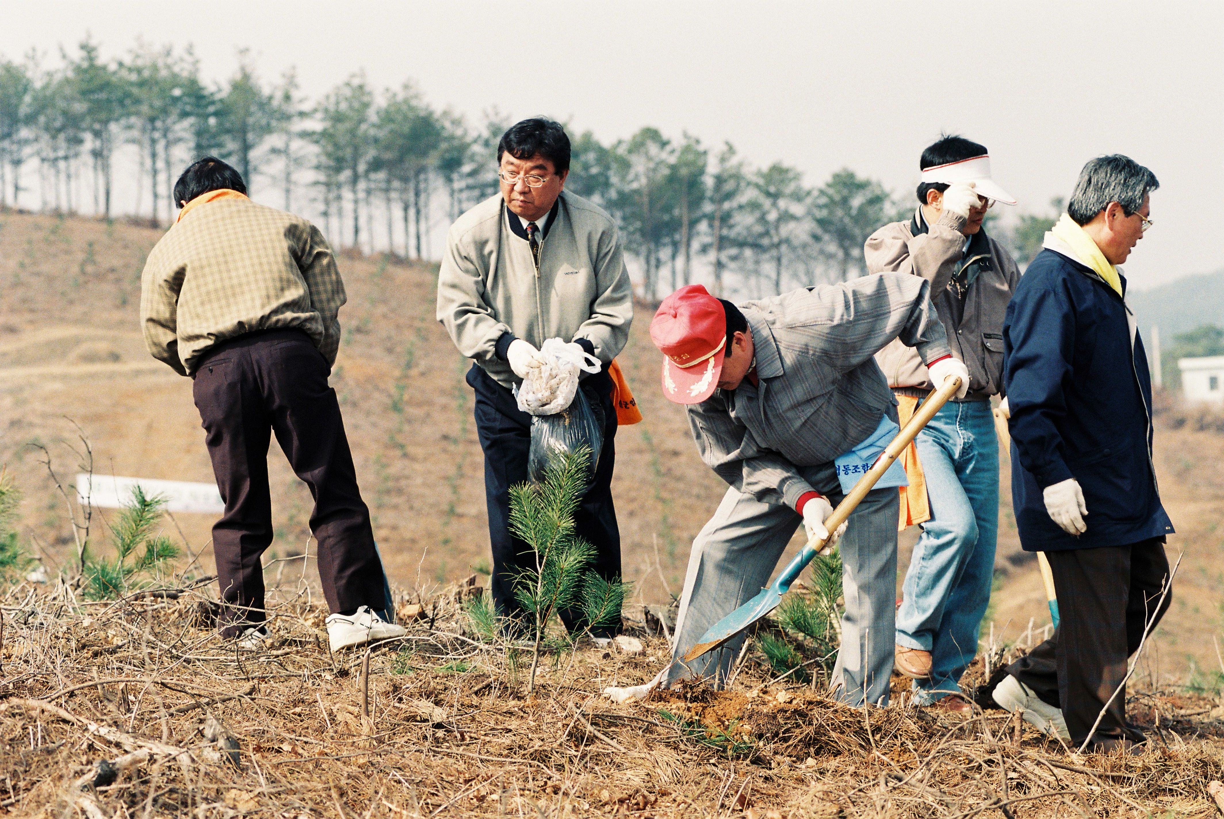
POLYGON ((345 301, 335 258, 306 219, 256 204, 213 157, 174 186, 181 212, 144 264, 141 324, 153 357, 193 380, 225 514, 213 526, 222 635, 263 645, 263 567, 272 544, 268 444, 275 433, 310 486, 310 525, 332 610, 332 650, 399 637, 335 391, 345 301))

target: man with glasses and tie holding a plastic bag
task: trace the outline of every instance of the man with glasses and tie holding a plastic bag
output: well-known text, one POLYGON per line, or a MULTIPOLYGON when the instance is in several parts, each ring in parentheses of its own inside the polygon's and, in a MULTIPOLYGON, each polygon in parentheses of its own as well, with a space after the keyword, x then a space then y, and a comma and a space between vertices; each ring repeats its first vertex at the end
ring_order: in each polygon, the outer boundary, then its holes
MULTIPOLYGON (((595 547, 594 569, 621 574, 621 533, 612 504, 617 417, 607 367, 629 338, 633 289, 616 222, 565 191, 569 137, 557 122, 514 125, 497 147, 501 192, 450 226, 438 273, 438 321, 472 360, 476 432, 485 451, 485 497, 493 552, 491 589, 502 616, 518 617, 514 578, 534 570, 535 556, 509 533, 509 488, 528 480, 531 416, 512 389, 546 339, 561 338, 603 365, 581 382, 605 420, 595 476, 575 514, 575 534, 595 547)), ((580 628, 578 611, 561 612, 580 628)), ((592 629, 605 639, 617 623, 592 629)))

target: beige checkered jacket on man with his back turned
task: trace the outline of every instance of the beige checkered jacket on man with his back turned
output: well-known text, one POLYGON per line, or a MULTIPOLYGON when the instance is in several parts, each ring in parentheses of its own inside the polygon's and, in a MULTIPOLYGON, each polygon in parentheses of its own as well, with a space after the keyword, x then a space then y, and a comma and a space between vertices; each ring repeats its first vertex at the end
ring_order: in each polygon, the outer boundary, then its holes
POLYGON ((141 326, 153 357, 185 376, 211 346, 262 329, 299 328, 334 364, 344 301, 318 228, 226 198, 197 206, 153 247, 141 282, 141 326))

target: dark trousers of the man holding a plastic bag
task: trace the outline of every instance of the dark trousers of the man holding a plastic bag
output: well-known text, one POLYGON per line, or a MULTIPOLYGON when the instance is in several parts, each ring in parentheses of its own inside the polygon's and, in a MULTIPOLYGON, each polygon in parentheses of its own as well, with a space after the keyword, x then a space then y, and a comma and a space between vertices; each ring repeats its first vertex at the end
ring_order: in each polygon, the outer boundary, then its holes
MULTIPOLYGON (((488 539, 493 547, 492 595, 497 611, 506 617, 519 617, 521 607, 514 599, 514 578, 524 569, 535 570, 535 555, 523 540, 509 530, 510 487, 528 480, 528 453, 531 448, 531 416, 521 411, 514 394, 497 383, 479 365, 468 372, 468 383, 476 391, 476 435, 485 451, 485 499, 488 504, 488 539)), ((591 567, 602 578, 621 575, 621 530, 612 506, 612 470, 616 466, 616 406, 612 403, 612 380, 606 372, 590 376, 583 389, 592 394, 603 408, 603 449, 600 452, 595 479, 578 513, 575 534, 595 547, 591 567)), ((561 613, 565 628, 580 627, 577 610, 561 613)), ((619 617, 612 627, 592 629, 595 637, 610 637, 621 630, 619 617)))

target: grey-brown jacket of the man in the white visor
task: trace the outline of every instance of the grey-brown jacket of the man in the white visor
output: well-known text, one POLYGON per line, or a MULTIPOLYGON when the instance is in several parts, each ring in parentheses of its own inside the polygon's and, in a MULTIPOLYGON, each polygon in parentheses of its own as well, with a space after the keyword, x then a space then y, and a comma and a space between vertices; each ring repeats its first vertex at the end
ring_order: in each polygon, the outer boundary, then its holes
MULTIPOLYGON (((985 400, 1002 394, 1002 320, 1020 283, 1020 268, 1011 255, 985 234, 969 241, 966 255, 961 233, 963 217, 944 211, 935 224, 927 224, 919 222, 919 214, 920 208, 913 219, 886 224, 871 234, 863 249, 867 271, 909 273, 930 282, 930 299, 947 331, 952 355, 969 370, 969 392, 962 400, 985 400), (957 323, 952 305, 957 295, 949 284, 962 267, 969 268, 968 285, 963 315, 957 323)), ((924 392, 934 387, 927 365, 900 342, 889 344, 875 360, 890 387, 924 392)))

